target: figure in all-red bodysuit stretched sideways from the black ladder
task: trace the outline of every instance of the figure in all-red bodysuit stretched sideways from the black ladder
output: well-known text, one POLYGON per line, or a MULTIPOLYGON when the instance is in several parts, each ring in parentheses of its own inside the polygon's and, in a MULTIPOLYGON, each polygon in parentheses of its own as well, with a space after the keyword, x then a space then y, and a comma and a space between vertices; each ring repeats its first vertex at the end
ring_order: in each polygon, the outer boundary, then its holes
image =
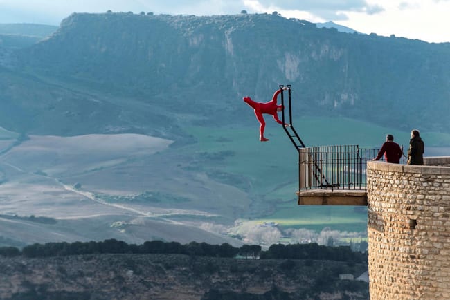
MULTIPOLYGON (((283 87, 283 90, 287 90, 287 87, 283 87)), ((281 105, 277 105, 277 97, 278 94, 281 93, 281 89, 277 90, 275 93, 273 93, 272 100, 269 102, 255 102, 251 100, 251 97, 244 97, 244 102, 246 104, 249 104, 252 109, 255 110, 255 115, 258 121, 260 122, 260 141, 261 142, 267 142, 269 139, 264 138, 264 129, 266 128, 266 122, 264 121, 264 117, 262 116, 263 113, 266 113, 268 115, 272 115, 273 119, 276 120, 278 124, 282 124, 285 126, 289 126, 289 124, 283 124, 283 122, 278 119, 278 111, 281 111, 283 107, 281 105)))

